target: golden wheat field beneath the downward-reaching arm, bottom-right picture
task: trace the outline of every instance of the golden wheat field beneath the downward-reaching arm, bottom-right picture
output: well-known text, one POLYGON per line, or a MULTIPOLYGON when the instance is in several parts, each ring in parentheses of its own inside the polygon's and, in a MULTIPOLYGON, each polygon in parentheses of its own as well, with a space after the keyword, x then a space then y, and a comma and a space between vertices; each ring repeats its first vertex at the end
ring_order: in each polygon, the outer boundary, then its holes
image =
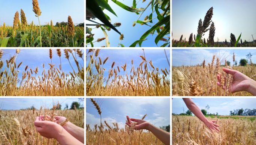
POLYGON ((250 117, 217 119, 219 133, 212 133, 195 116, 172 116, 172 144, 179 145, 253 145, 256 142, 256 121, 250 117))

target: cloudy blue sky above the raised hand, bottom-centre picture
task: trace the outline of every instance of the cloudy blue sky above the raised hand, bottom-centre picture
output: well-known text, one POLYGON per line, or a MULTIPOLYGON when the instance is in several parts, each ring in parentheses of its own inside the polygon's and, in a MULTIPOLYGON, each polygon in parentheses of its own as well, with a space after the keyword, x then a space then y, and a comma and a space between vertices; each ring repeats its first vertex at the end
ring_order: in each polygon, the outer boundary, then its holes
MULTIPOLYGON (((118 122, 119 128, 124 128, 126 116, 141 119, 147 114, 147 122, 159 127, 170 124, 170 98, 94 98, 101 108, 101 121, 108 124, 118 122)), ((86 99, 86 124, 94 128, 100 124, 100 115, 86 99)))

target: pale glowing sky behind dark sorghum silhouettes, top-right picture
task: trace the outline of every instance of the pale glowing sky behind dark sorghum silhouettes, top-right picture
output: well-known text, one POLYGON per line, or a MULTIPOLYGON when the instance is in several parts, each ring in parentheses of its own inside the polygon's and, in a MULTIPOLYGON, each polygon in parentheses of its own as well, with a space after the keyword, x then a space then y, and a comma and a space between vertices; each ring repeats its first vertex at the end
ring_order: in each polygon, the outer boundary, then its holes
MULTIPOLYGON (((238 38, 242 32, 241 39, 252 41, 256 39, 256 13, 255 0, 172 0, 172 32, 174 40, 189 39, 189 35, 197 34, 199 19, 204 21, 206 12, 213 7, 212 21, 215 25, 214 42, 230 42, 230 34, 238 38)), ((209 26, 210 28, 210 26, 209 26)), ((207 40, 209 31, 203 38, 207 40)))

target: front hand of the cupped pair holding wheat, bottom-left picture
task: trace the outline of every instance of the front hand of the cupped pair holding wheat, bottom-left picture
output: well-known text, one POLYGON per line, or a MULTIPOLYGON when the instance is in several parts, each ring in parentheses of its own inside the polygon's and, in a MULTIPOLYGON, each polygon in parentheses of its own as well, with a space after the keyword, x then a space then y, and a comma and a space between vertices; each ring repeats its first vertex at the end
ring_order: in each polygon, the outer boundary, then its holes
POLYGON ((58 133, 63 130, 59 124, 50 121, 43 121, 43 116, 37 116, 34 122, 37 132, 46 138, 57 138, 58 133))

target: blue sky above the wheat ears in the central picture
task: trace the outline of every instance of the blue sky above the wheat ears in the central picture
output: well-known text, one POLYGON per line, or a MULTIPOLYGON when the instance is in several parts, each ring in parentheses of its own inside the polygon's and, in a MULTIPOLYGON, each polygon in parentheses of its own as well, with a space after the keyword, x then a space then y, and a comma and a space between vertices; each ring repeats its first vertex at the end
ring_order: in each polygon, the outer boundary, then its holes
MULTIPOLYGON (((86 54, 88 51, 89 49, 86 49, 86 54)), ((170 61, 170 49, 166 49, 165 51, 168 60, 170 61)), ((152 64, 154 67, 158 67, 159 70, 165 68, 167 70, 170 70, 170 67, 165 57, 164 49, 144 49, 144 52, 146 60, 152 60, 152 64)), ((92 55, 93 52, 90 52, 89 54, 92 55)), ((140 56, 144 56, 142 49, 101 49, 98 55, 98 57, 100 57, 102 61, 106 59, 106 57, 109 57, 107 62, 104 64, 104 68, 106 68, 104 73, 105 77, 108 77, 108 72, 111 69, 113 62, 115 62, 113 68, 117 69, 117 66, 119 66, 119 68, 121 69, 120 73, 122 72, 121 66, 123 66, 125 63, 127 63, 127 70, 131 70, 131 60, 133 60, 133 65, 137 70, 137 67, 143 61, 140 56)), ((86 61, 86 66, 88 65, 89 61, 89 59, 86 61)), ((97 62, 99 62, 98 58, 97 62)), ((162 72, 160 71, 160 73, 162 72)))

